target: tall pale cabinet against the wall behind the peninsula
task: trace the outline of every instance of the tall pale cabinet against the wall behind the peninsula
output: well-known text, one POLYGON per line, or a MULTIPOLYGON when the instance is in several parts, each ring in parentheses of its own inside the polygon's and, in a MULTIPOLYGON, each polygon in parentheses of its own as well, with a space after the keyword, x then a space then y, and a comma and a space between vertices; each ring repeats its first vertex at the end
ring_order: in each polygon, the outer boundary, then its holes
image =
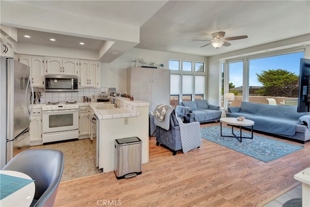
POLYGON ((159 104, 170 104, 170 70, 142 67, 127 68, 127 93, 136 100, 150 103, 154 111, 159 104))

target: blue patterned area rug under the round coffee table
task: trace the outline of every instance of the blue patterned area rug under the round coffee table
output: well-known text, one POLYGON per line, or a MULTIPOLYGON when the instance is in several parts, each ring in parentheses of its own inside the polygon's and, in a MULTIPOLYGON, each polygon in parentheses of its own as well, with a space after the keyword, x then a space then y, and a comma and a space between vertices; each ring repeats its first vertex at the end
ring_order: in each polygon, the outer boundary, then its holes
MULTIPOLYGON (((240 136, 239 127, 234 127, 233 132, 235 135, 240 136)), ((253 139, 242 139, 242 143, 240 143, 233 137, 221 137, 219 125, 203 127, 201 129, 201 135, 203 139, 228 147, 264 162, 281 158, 304 147, 301 145, 284 143, 255 134, 253 134, 253 139)), ((232 127, 222 127, 222 135, 232 136, 232 127)), ((242 136, 251 137, 251 133, 242 129, 242 136)))

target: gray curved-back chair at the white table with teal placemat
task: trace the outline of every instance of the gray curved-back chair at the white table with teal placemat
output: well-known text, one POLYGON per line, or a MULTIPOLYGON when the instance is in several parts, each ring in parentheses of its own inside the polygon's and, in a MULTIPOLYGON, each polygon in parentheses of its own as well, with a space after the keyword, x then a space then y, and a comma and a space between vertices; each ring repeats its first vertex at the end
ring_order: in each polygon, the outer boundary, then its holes
POLYGON ((62 178, 62 151, 30 149, 17 154, 2 170, 12 170, 34 179, 35 194, 31 207, 52 207, 62 178))

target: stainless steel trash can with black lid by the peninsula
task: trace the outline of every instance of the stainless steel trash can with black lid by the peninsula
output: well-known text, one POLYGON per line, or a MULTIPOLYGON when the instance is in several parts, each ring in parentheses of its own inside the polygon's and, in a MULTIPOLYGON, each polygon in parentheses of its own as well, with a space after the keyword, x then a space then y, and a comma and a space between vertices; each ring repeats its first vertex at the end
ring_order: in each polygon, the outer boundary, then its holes
POLYGON ((114 173, 117 179, 142 173, 142 141, 138 137, 114 141, 114 173))

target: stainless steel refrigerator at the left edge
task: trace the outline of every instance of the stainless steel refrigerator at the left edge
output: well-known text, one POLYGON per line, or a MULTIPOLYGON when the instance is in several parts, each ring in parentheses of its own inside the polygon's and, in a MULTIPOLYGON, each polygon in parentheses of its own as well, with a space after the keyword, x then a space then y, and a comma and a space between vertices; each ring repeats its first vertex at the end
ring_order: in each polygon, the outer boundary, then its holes
POLYGON ((30 144, 33 107, 30 67, 9 57, 0 64, 0 169, 13 158, 13 149, 30 144))

